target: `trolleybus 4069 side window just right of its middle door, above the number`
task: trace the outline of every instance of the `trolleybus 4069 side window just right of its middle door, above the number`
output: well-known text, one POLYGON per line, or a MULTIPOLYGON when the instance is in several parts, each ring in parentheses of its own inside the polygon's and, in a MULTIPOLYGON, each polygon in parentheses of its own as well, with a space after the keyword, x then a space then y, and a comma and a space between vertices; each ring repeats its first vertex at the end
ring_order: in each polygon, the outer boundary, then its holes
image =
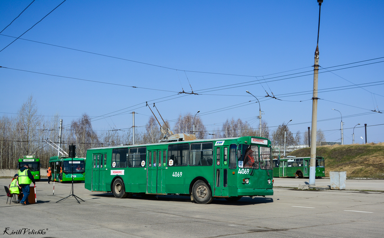
POLYGON ((168 146, 168 166, 187 166, 189 162, 189 144, 170 144, 168 146))

